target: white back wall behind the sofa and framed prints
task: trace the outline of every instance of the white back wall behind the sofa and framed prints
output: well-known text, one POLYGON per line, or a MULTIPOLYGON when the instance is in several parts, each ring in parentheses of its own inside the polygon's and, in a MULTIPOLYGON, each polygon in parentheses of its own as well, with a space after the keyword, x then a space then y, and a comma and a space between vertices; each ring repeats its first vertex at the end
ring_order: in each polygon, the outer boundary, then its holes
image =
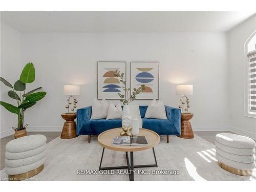
MULTIPOLYGON (((160 61, 160 99, 178 106, 176 84, 194 84, 194 129, 228 129, 228 53, 225 33, 22 33, 21 61, 33 62, 47 96, 28 109, 30 130, 61 130, 64 84, 80 84, 78 108, 97 97, 97 61, 160 61)), ((7 68, 6 70, 10 70, 7 68)), ((148 104, 150 101, 137 101, 148 104)))

